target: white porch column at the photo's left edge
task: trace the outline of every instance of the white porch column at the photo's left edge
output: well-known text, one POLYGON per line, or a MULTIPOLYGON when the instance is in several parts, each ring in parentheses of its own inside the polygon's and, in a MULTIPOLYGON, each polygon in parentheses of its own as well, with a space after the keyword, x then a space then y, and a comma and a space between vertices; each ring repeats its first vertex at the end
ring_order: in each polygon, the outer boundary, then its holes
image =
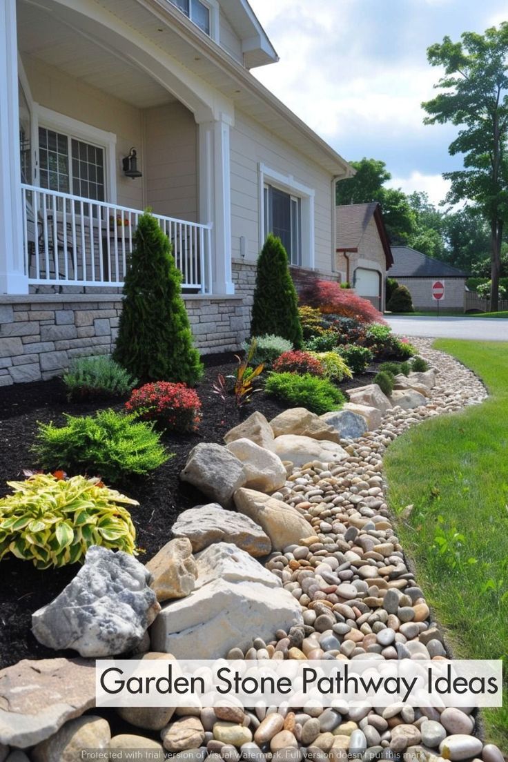
POLYGON ((16 0, 0 2, 0 293, 28 293, 24 273, 16 0))

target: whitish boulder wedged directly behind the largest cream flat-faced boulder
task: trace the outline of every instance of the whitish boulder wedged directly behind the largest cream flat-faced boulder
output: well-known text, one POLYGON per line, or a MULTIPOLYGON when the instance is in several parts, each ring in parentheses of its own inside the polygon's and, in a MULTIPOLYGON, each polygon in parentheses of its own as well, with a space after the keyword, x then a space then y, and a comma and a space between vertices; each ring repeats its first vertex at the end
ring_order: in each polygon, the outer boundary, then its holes
POLYGON ((260 562, 231 543, 215 543, 196 555, 196 588, 215 579, 229 582, 262 582, 267 588, 280 588, 282 582, 260 562))

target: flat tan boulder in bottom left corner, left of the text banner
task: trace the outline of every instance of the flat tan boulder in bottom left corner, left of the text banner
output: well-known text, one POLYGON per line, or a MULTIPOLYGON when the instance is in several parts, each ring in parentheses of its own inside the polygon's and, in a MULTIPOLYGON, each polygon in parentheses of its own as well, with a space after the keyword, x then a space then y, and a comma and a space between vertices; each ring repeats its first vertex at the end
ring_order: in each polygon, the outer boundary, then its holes
POLYGON ((26 748, 95 706, 92 659, 23 659, 0 671, 0 748, 26 748))

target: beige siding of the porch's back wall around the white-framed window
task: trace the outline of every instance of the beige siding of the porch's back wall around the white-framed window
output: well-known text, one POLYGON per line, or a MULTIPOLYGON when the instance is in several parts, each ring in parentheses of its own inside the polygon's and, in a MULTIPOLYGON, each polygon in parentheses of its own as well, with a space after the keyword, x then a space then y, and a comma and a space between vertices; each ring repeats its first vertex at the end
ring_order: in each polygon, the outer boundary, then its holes
POLYGON ((142 181, 129 180, 121 168, 131 146, 136 146, 143 165, 141 110, 30 56, 24 56, 23 63, 36 103, 117 136, 117 203, 142 209, 142 181))

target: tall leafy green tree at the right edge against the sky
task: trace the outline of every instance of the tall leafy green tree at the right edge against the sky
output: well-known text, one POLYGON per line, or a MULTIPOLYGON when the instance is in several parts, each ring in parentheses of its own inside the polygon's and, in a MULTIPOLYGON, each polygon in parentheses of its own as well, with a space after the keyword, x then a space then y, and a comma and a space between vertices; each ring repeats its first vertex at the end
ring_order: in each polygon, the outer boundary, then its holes
POLYGON ((441 92, 422 104, 427 124, 451 122, 460 127, 449 146, 464 155, 462 170, 447 172, 452 187, 448 200, 469 199, 490 227, 492 291, 490 309, 499 303, 500 251, 508 216, 508 22, 477 34, 465 32, 460 42, 444 37, 427 50, 431 66, 445 75, 441 92))

